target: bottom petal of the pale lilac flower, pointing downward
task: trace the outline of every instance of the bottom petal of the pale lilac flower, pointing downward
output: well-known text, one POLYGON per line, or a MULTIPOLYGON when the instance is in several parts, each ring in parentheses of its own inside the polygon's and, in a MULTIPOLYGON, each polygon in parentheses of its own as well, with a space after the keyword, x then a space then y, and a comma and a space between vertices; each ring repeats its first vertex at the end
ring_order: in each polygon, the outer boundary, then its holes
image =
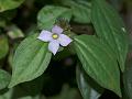
POLYGON ((56 40, 53 40, 48 44, 48 50, 55 55, 59 48, 59 42, 56 40))

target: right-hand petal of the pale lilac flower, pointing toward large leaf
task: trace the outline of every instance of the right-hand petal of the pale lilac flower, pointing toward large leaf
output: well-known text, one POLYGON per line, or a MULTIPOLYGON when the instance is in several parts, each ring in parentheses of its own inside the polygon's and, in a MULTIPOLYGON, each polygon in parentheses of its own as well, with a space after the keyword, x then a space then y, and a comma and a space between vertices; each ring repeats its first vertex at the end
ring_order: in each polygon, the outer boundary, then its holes
POLYGON ((61 34, 58 41, 62 46, 67 46, 70 42, 73 42, 73 40, 65 34, 61 34))

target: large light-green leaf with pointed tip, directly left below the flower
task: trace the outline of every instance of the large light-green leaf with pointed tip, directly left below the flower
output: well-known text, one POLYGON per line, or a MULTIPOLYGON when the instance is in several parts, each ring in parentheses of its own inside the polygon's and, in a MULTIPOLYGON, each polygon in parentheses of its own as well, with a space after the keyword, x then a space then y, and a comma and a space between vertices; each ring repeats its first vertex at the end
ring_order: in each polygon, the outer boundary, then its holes
POLYGON ((47 68, 52 54, 47 43, 37 40, 38 34, 25 38, 13 57, 12 78, 9 88, 41 76, 47 68))

